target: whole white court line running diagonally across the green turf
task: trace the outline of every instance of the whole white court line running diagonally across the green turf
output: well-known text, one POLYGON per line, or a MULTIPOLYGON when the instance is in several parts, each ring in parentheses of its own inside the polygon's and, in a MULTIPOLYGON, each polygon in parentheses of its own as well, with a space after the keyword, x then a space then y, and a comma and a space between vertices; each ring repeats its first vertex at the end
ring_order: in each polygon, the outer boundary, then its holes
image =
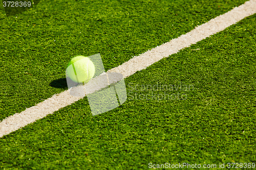
MULTIPOLYGON (((198 41, 209 37, 210 35, 223 31, 227 27, 254 13, 256 13, 256 0, 250 0, 239 7, 233 8, 231 11, 223 15, 211 19, 178 38, 134 57, 118 67, 112 68, 108 72, 119 72, 124 78, 129 77, 136 71, 145 69, 162 58, 177 53, 182 48, 188 47, 191 44, 195 44, 198 41)), ((36 106, 30 107, 23 112, 15 113, 0 123, 0 137, 16 131, 19 128, 23 128, 48 114, 52 114, 60 108, 71 105, 79 99, 81 98, 71 96, 69 91, 66 90, 53 95, 52 98, 49 98, 36 106)))

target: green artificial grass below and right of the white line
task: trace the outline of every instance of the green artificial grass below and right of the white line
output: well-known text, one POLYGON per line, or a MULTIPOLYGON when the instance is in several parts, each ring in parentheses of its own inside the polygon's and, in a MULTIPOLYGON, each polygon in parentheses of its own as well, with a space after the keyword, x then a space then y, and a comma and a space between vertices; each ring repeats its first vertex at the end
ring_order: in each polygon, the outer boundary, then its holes
POLYGON ((255 23, 256 15, 247 17, 126 78, 128 99, 112 111, 92 116, 85 98, 4 136, 0 167, 148 169, 150 162, 255 163, 255 23), (179 84, 182 89, 176 90, 179 84), (174 85, 174 90, 154 91, 148 85, 174 85), (186 91, 185 85, 194 88, 186 91), (152 92, 179 92, 187 99, 135 98, 152 92))

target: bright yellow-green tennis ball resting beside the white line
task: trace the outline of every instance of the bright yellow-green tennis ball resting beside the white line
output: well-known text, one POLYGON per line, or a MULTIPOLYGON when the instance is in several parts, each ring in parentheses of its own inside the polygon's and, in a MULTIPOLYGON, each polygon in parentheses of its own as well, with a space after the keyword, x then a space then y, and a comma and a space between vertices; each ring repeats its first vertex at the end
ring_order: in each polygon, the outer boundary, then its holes
POLYGON ((88 83, 95 74, 95 66, 88 57, 77 56, 69 62, 67 74, 76 83, 88 83))

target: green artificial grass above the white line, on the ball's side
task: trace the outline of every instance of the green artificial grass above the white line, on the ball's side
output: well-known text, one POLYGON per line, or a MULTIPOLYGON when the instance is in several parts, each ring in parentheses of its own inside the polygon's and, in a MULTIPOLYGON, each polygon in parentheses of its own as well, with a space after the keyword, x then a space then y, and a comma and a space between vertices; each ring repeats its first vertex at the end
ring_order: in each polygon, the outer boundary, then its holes
POLYGON ((105 70, 177 38, 245 1, 41 1, 0 15, 0 120, 67 89, 76 55, 105 70))

